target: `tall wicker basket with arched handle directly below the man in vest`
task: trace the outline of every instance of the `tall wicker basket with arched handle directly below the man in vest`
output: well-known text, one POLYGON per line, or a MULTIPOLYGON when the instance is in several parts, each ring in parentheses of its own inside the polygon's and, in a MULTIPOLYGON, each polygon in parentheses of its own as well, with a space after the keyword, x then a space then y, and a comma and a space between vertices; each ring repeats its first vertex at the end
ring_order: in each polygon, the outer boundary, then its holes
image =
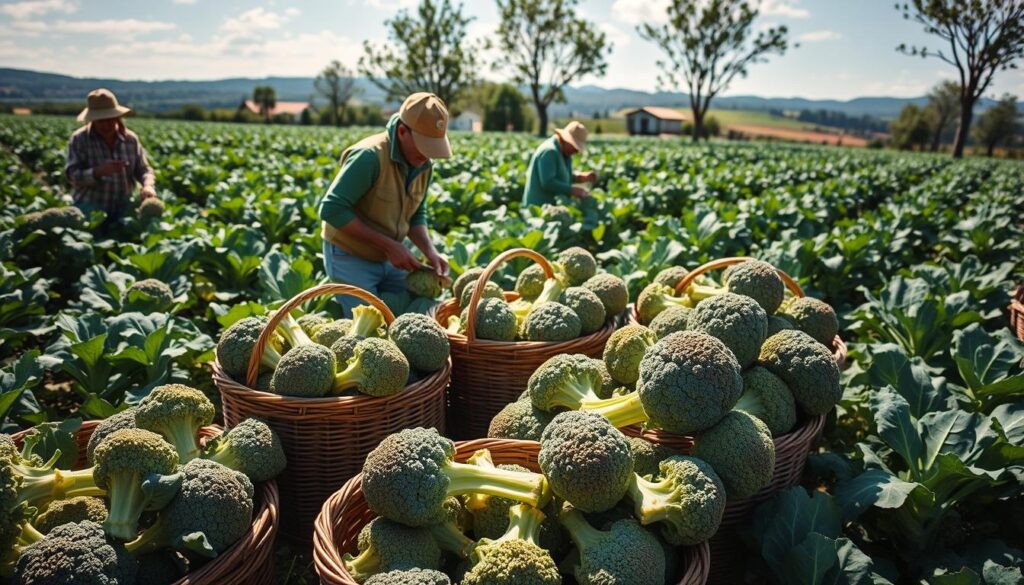
POLYGON ((282 534, 305 543, 312 538, 312 523, 324 500, 359 472, 362 460, 382 438, 416 426, 444 431, 444 390, 452 373, 450 361, 443 369, 391 396, 303 399, 254 389, 259 357, 284 315, 309 299, 334 294, 358 297, 380 309, 386 323, 394 321, 380 299, 361 289, 319 285, 289 300, 267 323, 249 363, 248 383, 229 378, 219 363, 213 365, 226 423, 233 426, 259 417, 281 437, 288 456, 288 470, 278 478, 282 534))

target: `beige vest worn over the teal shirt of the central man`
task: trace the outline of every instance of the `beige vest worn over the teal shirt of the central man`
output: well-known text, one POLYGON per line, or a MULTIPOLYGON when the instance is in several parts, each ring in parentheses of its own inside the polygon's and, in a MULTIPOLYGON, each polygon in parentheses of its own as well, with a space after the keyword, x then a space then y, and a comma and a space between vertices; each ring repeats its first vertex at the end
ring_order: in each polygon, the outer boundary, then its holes
MULTIPOLYGON (((355 204, 355 216, 371 229, 383 234, 395 242, 402 242, 409 235, 409 221, 426 196, 430 170, 416 175, 406 189, 406 173, 398 163, 391 160, 391 143, 387 132, 374 134, 345 149, 341 163, 355 150, 377 153, 380 174, 370 191, 355 204)), ((322 222, 322 237, 328 242, 365 260, 383 262, 387 256, 370 242, 353 238, 327 221, 322 222)))

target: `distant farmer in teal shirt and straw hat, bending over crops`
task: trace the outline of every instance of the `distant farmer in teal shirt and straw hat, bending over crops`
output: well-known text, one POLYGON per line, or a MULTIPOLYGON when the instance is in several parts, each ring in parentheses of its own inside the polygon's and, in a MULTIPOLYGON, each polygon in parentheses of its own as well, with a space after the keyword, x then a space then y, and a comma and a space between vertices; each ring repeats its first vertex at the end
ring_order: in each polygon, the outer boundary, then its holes
POLYGON ((580 122, 569 122, 555 130, 534 151, 526 167, 526 189, 522 194, 523 205, 555 203, 559 195, 577 199, 590 197, 586 189, 573 183, 597 182, 597 173, 572 172, 572 156, 587 147, 587 128, 580 122))

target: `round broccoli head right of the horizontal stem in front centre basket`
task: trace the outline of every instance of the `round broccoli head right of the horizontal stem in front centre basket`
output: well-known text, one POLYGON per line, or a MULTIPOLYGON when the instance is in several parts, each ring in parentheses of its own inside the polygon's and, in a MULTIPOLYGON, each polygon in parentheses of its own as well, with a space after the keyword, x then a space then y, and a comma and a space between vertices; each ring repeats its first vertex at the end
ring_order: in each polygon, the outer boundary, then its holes
POLYGON ((633 476, 630 444, 593 413, 558 414, 544 429, 538 460, 551 491, 587 512, 614 506, 633 476))

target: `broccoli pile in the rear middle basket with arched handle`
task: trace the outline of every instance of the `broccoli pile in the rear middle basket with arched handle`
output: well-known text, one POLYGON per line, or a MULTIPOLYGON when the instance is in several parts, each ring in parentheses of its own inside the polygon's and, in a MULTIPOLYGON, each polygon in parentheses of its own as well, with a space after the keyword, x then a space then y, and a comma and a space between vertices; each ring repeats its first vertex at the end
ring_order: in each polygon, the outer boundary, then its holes
MULTIPOLYGON (((579 246, 562 250, 547 278, 540 264, 530 264, 515 278, 515 293, 495 282, 484 283, 477 305, 474 333, 492 341, 569 341, 590 335, 626 310, 626 283, 598 273, 597 259, 579 246)), ((465 334, 473 290, 483 270, 464 271, 452 285, 460 312, 445 324, 450 333, 465 334)))

